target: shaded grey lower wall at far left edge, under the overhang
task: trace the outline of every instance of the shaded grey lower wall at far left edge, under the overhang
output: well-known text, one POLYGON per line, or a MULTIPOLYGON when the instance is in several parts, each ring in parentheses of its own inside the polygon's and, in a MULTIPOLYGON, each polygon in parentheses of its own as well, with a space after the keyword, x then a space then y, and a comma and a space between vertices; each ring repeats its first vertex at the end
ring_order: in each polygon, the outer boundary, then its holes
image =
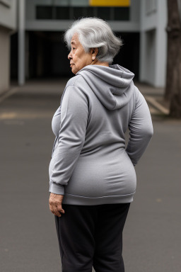
POLYGON ((0 26, 0 94, 9 87, 9 31, 0 26))

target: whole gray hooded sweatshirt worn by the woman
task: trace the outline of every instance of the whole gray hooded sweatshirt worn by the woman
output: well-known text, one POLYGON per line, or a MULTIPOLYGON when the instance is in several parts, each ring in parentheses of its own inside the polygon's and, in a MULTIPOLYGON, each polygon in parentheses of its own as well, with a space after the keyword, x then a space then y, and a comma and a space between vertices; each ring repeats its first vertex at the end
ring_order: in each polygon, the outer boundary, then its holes
POLYGON ((88 65, 67 82, 52 118, 56 138, 49 164, 49 192, 64 195, 64 204, 132 202, 134 166, 153 135, 133 78, 118 64, 88 65))

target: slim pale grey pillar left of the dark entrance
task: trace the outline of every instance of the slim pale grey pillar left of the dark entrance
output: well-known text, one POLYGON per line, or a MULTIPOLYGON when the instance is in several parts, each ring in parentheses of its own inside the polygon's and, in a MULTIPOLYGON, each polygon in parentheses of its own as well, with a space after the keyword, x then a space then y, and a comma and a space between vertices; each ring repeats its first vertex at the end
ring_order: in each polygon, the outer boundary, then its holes
POLYGON ((18 1, 18 84, 25 83, 25 0, 18 1))

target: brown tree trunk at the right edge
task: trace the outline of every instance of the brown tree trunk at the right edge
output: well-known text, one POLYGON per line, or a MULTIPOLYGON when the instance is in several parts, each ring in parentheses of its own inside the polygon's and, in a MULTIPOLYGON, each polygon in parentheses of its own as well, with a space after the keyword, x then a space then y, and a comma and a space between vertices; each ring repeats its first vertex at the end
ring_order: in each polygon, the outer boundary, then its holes
POLYGON ((181 118, 181 23, 177 0, 168 0, 168 62, 165 99, 170 115, 181 118))

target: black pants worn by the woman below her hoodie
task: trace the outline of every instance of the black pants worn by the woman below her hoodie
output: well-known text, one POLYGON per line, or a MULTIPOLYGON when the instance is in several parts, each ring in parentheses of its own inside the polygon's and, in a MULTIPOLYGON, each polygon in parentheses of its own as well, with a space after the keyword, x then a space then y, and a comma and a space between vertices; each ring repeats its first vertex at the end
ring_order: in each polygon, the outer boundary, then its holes
POLYGON ((62 205, 55 216, 62 272, 124 272, 122 231, 130 203, 62 205))

